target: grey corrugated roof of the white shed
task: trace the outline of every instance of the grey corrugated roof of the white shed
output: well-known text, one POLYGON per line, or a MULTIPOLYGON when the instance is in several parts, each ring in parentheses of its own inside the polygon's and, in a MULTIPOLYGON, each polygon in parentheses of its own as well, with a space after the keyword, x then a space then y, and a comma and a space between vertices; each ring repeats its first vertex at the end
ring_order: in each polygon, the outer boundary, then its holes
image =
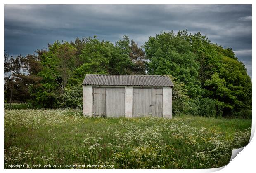
POLYGON ((173 86, 168 76, 86 75, 83 85, 173 86))

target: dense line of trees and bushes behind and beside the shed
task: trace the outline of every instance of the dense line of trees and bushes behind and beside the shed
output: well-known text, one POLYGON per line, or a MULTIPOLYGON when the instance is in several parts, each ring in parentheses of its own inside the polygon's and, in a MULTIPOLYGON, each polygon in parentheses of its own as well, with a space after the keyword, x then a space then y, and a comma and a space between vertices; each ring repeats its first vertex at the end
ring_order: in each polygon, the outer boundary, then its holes
POLYGON ((86 74, 170 75, 173 114, 250 117, 251 78, 231 48, 206 35, 161 32, 139 47, 124 36, 56 41, 27 56, 5 54, 5 102, 34 108, 82 107, 86 74))

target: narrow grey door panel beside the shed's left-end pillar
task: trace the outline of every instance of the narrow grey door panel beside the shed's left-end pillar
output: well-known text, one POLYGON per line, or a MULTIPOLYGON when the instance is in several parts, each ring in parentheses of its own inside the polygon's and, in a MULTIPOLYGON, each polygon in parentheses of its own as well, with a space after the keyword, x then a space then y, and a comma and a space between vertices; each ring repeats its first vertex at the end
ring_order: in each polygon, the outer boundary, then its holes
POLYGON ((106 89, 92 87, 92 112, 93 115, 105 115, 106 89))

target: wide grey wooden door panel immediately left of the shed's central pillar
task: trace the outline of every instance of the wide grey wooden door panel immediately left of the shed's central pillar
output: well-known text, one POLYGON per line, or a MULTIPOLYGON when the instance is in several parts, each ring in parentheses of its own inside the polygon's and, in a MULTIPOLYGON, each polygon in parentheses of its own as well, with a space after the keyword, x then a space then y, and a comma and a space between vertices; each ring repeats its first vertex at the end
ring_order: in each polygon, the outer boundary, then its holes
POLYGON ((125 88, 106 88, 106 117, 125 116, 125 88))

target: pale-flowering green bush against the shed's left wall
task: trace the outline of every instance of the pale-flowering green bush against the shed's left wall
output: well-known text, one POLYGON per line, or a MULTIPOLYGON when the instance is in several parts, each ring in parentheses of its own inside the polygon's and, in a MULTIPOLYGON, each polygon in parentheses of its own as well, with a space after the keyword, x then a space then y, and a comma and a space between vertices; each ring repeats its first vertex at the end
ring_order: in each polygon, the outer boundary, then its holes
POLYGON ((66 87, 61 95, 63 108, 83 108, 83 86, 66 87))

